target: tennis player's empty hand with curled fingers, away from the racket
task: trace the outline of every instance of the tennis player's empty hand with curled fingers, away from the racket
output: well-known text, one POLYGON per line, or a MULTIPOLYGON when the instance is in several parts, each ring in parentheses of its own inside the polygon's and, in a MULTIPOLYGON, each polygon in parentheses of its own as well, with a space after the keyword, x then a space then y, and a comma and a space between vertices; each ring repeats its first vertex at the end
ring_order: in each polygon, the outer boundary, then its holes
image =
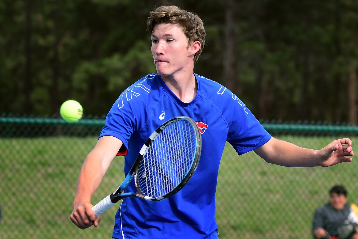
POLYGON ((321 166, 328 167, 342 162, 352 162, 353 156, 352 140, 348 138, 337 139, 326 147, 319 150, 321 156, 321 166))

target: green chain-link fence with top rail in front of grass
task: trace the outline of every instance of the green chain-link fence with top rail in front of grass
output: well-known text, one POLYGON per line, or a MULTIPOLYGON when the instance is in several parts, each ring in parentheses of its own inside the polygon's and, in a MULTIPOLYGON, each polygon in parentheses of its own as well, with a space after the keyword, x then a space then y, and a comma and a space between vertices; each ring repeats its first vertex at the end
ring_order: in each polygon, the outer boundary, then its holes
MULTIPOLYGON (((358 142, 357 126, 262 124, 276 138, 301 147, 320 149, 342 137, 358 142)), ((0 238, 111 238, 116 207, 101 216, 98 228, 81 230, 69 219, 79 170, 103 125, 104 117, 67 123, 0 116, 0 238)), ((93 203, 122 182, 123 161, 116 157, 112 162, 93 203)), ((328 201, 333 185, 343 184, 349 201, 358 202, 356 163, 287 168, 268 164, 253 152, 238 156, 227 144, 216 197, 219 238, 312 238, 314 209, 328 201)))

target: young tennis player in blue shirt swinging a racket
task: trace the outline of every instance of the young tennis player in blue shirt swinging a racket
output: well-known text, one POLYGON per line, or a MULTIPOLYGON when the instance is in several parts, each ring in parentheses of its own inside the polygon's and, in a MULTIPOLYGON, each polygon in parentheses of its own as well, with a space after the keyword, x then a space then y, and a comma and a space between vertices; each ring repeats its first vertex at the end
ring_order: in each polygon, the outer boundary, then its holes
MULTIPOLYGON (((239 155, 254 150, 266 162, 291 167, 331 166, 350 162, 352 141, 334 140, 320 150, 305 149, 272 138, 245 104, 224 86, 193 73, 204 47, 202 20, 176 6, 151 11, 147 21, 157 73, 125 90, 107 115, 95 148, 79 174, 74 224, 98 226, 91 197, 116 155, 125 155, 124 171, 134 163, 141 145, 165 120, 189 116, 202 126, 202 154, 189 183, 159 202, 119 202, 113 238, 218 238, 215 191, 222 152, 229 142, 239 155)), ((128 191, 134 190, 134 183, 128 191)))

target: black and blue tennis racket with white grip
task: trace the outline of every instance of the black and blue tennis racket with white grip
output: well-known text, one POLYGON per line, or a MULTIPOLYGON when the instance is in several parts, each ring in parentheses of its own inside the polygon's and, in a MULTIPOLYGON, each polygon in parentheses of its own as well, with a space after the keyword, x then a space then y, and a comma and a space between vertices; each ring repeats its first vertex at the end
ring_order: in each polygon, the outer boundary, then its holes
POLYGON ((201 135, 194 120, 177 116, 145 142, 122 184, 92 207, 96 217, 126 197, 160 201, 182 189, 198 167, 201 135), (134 178, 136 192, 122 193, 134 178))

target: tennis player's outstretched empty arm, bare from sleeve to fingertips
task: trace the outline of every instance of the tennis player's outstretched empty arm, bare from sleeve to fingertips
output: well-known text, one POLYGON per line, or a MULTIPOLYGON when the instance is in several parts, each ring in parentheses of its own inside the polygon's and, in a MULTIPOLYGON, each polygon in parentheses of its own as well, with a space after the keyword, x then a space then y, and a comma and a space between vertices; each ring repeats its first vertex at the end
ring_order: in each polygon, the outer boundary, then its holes
POLYGON ((326 147, 315 150, 301 148, 295 144, 272 137, 266 144, 254 150, 268 163, 287 167, 328 167, 337 163, 351 162, 352 140, 337 139, 326 147))

